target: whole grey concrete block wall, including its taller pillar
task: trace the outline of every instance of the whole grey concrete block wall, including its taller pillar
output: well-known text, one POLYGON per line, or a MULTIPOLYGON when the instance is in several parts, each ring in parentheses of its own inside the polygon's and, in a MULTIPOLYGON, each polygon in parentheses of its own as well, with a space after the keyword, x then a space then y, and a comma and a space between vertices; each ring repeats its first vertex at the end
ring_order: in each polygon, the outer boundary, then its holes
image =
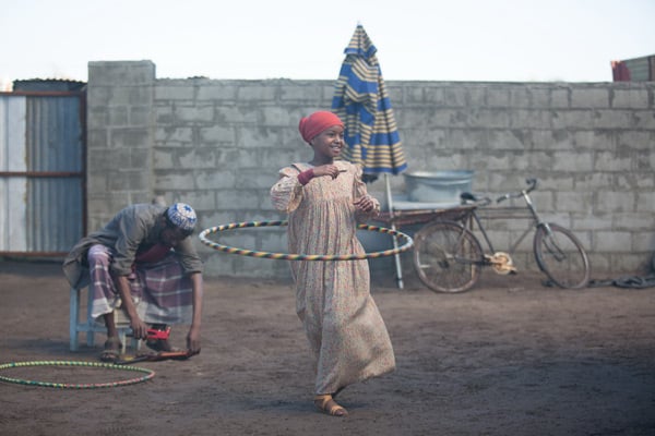
MULTIPOLYGON (((269 189, 279 168, 311 158, 298 120, 330 108, 333 84, 162 80, 150 61, 90 63, 90 229, 129 203, 158 195, 193 205, 202 229, 285 218, 272 208, 269 189)), ((595 276, 650 263, 655 84, 388 82, 388 88, 409 171, 475 170, 474 191, 490 196, 536 177, 538 210, 583 241, 595 276)), ((404 191, 403 177, 391 184, 394 194, 404 191)), ((369 190, 383 199, 383 181, 369 190)), ((503 250, 521 222, 490 226, 503 250)), ((286 245, 279 228, 212 239, 262 251, 286 245)), ((515 263, 534 268, 531 244, 522 247, 515 263)), ((288 277, 286 262, 199 249, 209 276, 288 277)), ((371 265, 392 270, 390 262, 371 265)), ((412 274, 407 255, 403 269, 412 274)))

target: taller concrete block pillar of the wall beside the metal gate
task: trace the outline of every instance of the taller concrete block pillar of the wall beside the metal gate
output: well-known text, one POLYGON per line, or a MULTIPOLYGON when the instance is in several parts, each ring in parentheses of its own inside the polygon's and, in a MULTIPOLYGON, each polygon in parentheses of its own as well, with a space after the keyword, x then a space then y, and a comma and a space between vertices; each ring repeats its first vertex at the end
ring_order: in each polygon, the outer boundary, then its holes
POLYGON ((104 226, 132 203, 153 199, 151 61, 90 62, 86 92, 87 228, 104 226))

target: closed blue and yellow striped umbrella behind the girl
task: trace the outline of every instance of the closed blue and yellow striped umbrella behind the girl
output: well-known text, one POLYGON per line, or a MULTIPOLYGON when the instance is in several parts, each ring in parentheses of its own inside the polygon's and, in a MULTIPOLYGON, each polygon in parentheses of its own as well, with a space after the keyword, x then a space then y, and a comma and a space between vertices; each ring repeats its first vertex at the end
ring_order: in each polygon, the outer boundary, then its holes
POLYGON ((344 158, 361 164, 367 181, 380 173, 400 174, 407 169, 377 51, 358 24, 344 50, 346 59, 332 99, 332 111, 345 124, 348 147, 344 158))

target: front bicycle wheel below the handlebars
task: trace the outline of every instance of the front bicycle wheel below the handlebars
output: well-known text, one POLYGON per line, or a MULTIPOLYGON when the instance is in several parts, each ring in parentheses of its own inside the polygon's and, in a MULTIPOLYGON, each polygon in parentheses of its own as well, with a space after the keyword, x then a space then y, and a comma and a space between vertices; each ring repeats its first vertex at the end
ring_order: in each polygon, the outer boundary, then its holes
POLYGON ((539 226, 534 251, 539 268, 560 288, 587 286, 590 261, 582 243, 570 230, 553 223, 539 226))

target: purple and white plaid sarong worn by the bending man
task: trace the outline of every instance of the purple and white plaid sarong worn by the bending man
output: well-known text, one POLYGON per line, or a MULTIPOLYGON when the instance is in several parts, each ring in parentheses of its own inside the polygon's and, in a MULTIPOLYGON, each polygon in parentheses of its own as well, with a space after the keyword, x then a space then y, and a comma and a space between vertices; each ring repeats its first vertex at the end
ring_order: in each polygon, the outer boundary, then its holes
MULTIPOLYGON (((109 270, 111 257, 111 249, 105 245, 94 245, 88 251, 93 317, 110 313, 121 305, 120 293, 109 270)), ((136 312, 144 323, 191 323, 193 289, 174 252, 157 262, 134 264, 129 282, 136 312)))

